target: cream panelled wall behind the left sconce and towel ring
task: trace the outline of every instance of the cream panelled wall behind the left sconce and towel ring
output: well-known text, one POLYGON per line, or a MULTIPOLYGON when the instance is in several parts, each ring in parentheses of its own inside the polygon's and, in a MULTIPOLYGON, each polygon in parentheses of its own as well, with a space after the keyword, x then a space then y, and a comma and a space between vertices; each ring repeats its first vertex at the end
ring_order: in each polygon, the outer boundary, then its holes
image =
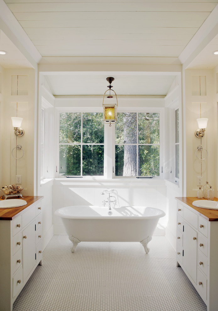
MULTIPOLYGON (((16 183, 16 174, 22 176, 24 195, 33 195, 35 184, 35 69, 4 69, 1 101, 1 179, 0 187, 16 183), (11 117, 22 117, 24 135, 14 135, 11 117), (14 159, 11 151, 22 145, 24 156, 14 159)), ((16 150, 14 150, 16 156, 16 150)), ((17 157, 22 151, 17 152, 17 157)))

